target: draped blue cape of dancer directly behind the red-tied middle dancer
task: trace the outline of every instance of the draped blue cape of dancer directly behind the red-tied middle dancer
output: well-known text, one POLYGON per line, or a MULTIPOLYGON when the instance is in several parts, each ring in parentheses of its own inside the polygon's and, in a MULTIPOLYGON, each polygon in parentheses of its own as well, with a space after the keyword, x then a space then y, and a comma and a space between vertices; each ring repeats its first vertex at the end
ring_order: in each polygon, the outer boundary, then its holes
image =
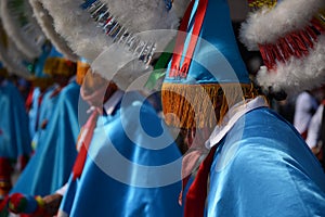
POLYGON ((10 193, 48 195, 68 180, 77 155, 76 142, 80 130, 79 91, 80 86, 75 81, 62 89, 46 133, 10 193))

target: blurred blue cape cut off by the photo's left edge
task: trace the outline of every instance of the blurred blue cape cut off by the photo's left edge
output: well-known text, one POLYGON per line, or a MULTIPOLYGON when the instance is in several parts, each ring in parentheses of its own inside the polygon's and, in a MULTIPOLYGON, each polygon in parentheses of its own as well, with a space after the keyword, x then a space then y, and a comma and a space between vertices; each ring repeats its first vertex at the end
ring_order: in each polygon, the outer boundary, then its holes
POLYGON ((17 88, 0 84, 0 157, 17 159, 31 153, 28 115, 17 88))

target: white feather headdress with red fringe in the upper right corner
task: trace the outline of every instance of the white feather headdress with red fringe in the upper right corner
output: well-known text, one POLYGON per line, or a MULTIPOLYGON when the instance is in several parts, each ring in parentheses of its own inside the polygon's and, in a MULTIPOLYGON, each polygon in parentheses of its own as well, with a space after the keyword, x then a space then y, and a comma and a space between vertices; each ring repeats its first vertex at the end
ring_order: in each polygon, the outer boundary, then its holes
POLYGON ((265 66, 258 72, 258 84, 288 94, 324 85, 325 1, 248 3, 252 12, 242 25, 240 40, 262 54, 265 66))

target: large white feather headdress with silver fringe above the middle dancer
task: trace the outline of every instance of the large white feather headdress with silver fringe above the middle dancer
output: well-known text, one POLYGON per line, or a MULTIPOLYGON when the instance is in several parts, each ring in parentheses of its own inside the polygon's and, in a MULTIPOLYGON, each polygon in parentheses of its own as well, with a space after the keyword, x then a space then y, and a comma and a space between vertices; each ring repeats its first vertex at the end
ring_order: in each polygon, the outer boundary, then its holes
MULTIPOLYGON (((182 10, 168 11, 165 0, 39 1, 53 17, 57 33, 78 55, 89 63, 93 63, 100 55, 105 62, 112 62, 114 69, 106 67, 105 72, 98 73, 113 79, 121 89, 150 68, 155 49, 164 48, 174 36, 174 31, 165 37, 157 34, 143 37, 140 33, 176 29, 179 25, 177 13, 182 13, 182 10)), ((96 61, 92 67, 95 71, 104 68, 101 61, 96 61)))

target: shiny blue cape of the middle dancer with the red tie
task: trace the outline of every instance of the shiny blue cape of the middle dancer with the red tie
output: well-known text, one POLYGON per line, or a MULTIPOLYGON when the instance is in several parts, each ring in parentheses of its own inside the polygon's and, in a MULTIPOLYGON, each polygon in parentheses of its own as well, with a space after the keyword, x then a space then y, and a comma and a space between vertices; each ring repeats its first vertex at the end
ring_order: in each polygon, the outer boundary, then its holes
POLYGON ((61 205, 61 212, 68 216, 182 216, 178 204, 181 154, 169 133, 162 135, 155 110, 147 103, 141 105, 138 93, 126 95, 132 95, 127 107, 98 120, 83 171, 77 180, 70 178, 61 205), (147 140, 146 135, 156 142, 147 140), (167 146, 159 145, 159 136, 167 146), (173 166, 165 173, 141 171, 142 166, 168 164, 173 166), (165 182, 170 177, 176 180, 165 182))

